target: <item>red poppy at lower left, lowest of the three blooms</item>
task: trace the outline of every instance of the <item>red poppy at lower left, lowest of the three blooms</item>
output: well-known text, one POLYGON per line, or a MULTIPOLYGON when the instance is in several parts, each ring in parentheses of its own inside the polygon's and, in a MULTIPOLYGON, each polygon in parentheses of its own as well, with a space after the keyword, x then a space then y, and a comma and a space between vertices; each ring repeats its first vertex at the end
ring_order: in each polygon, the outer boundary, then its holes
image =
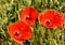
POLYGON ((23 40, 30 39, 32 34, 31 28, 23 21, 16 21, 9 25, 8 32, 10 36, 17 43, 21 43, 23 40))

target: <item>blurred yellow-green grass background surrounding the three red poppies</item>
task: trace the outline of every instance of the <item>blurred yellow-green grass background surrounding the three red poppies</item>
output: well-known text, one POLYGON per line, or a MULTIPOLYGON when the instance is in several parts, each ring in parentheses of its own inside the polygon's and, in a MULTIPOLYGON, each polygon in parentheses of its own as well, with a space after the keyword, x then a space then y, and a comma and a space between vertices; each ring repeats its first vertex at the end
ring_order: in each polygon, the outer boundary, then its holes
MULTIPOLYGON (((10 38, 6 26, 18 20, 22 8, 27 5, 36 8, 39 13, 48 9, 65 12, 65 0, 0 0, 0 45, 21 45, 10 38)), ((22 45, 65 45, 65 25, 56 29, 47 29, 36 20, 31 27, 32 38, 24 41, 22 45)))

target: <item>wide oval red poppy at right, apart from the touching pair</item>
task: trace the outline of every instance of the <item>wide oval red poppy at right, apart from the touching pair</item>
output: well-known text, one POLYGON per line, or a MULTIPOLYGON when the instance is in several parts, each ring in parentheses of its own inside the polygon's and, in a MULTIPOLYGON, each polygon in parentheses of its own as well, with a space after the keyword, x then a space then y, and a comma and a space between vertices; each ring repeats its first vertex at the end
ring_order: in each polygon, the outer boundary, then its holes
POLYGON ((39 15, 38 19, 47 28, 55 28, 63 24, 64 16, 55 10, 47 10, 39 15))

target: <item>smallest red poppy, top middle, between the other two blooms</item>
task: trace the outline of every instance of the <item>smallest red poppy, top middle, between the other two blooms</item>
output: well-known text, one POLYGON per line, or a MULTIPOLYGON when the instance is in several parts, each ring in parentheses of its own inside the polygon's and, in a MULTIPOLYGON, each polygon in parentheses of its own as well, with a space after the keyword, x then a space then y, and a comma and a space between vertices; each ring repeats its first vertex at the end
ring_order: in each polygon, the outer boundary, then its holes
POLYGON ((25 6, 20 14, 20 19, 28 25, 34 25, 37 17, 37 10, 31 6, 25 6))

